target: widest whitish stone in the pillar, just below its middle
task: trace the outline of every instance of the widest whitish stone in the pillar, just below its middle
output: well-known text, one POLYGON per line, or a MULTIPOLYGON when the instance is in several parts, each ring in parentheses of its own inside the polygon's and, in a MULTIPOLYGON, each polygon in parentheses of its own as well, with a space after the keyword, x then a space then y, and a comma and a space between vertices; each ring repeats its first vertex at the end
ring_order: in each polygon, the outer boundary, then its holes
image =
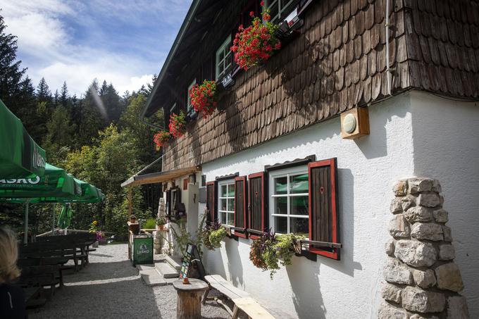
POLYGON ((396 242, 394 256, 413 267, 430 267, 437 254, 433 244, 402 239, 396 242))

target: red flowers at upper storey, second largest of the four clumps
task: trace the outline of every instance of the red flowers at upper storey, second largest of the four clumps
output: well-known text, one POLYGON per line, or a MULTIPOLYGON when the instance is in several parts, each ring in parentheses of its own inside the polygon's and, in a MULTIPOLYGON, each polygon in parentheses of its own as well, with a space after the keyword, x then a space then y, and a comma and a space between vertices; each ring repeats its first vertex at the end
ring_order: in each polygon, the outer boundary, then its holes
POLYGON ((194 111, 201 113, 204 118, 213 114, 218 102, 216 101, 216 82, 204 80, 201 85, 194 85, 189 90, 194 111))

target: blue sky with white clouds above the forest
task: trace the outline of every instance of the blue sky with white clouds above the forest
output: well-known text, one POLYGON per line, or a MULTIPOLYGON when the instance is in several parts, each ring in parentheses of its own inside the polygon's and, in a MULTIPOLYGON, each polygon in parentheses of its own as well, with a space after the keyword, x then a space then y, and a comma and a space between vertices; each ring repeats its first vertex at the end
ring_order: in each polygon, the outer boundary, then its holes
POLYGON ((151 82, 192 0, 1 0, 6 32, 36 86, 67 82, 83 94, 94 78, 118 92, 151 82))

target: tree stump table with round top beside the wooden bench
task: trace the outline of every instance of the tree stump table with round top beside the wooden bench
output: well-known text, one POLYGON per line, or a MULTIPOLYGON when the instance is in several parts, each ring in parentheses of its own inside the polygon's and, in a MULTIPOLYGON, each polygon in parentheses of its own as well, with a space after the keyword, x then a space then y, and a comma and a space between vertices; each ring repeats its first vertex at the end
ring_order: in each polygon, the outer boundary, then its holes
POLYGON ((182 279, 173 282, 177 292, 176 318, 197 319, 201 318, 201 297, 208 284, 203 280, 189 279, 189 284, 184 284, 182 279))

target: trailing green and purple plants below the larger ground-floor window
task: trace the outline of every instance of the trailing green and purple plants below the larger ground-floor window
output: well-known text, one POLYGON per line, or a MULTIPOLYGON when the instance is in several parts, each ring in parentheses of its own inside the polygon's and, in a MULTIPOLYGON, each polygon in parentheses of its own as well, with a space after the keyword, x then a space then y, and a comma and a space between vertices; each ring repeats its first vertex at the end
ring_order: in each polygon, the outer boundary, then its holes
POLYGON ((280 265, 291 265, 296 242, 304 239, 295 234, 275 235, 270 230, 254 239, 249 251, 249 260, 263 271, 270 271, 270 278, 280 269, 280 265))

